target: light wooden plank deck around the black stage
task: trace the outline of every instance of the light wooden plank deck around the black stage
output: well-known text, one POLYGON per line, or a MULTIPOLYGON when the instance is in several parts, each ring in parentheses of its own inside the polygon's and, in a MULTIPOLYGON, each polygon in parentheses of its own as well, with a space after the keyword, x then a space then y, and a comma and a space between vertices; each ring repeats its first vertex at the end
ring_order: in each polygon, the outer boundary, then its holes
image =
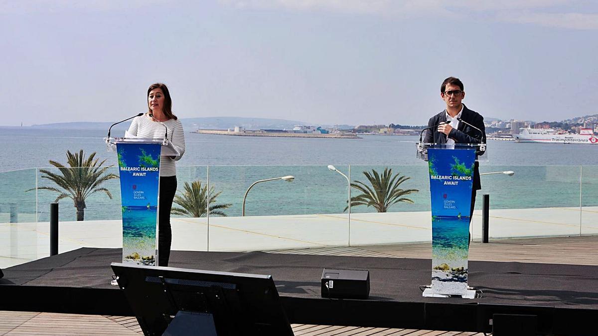
MULTIPOLYGON (((472 243, 469 257, 479 261, 544 262, 598 265, 598 236, 496 240, 472 243)), ((270 253, 430 258, 429 243, 339 248, 285 249, 270 253)), ((362 328, 355 326, 292 325, 304 336, 483 336, 475 332, 362 328)), ((139 335, 135 317, 0 311, 1 335, 139 335)))

